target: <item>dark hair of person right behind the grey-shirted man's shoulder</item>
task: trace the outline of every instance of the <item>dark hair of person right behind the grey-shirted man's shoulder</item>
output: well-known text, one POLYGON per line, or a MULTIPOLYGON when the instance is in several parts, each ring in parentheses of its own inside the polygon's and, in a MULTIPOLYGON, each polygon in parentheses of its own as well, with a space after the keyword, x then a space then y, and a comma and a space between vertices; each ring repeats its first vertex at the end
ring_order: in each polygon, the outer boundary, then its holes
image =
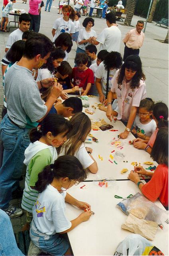
POLYGON ((9 62, 15 63, 16 61, 20 61, 24 54, 25 49, 25 41, 18 40, 12 44, 11 48, 6 54, 6 58, 9 60, 9 62))

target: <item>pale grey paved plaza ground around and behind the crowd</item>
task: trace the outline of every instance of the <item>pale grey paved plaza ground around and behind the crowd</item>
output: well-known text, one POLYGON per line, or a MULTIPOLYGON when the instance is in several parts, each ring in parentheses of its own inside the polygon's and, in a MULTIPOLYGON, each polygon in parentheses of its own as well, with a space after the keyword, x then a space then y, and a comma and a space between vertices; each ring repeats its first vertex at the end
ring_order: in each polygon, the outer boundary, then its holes
MULTIPOLYGON (((44 2, 46 3, 46 1, 44 2)), ((57 14, 58 2, 59 2, 58 0, 54 0, 50 13, 45 12, 45 8, 42 8, 42 11, 41 11, 41 27, 39 32, 45 34, 50 39, 52 39, 51 29, 55 22, 55 19, 61 17, 61 15, 57 14)), ((0 6, 2 6, 2 0, 0 0, 0 6)), ((28 12, 29 5, 22 4, 21 1, 17 1, 17 3, 14 4, 14 8, 25 9, 28 12)), ((84 18, 85 17, 83 16, 81 17, 80 19, 81 24, 84 18)), ((10 18, 10 20, 12 19, 10 18)), ((124 38, 124 35, 128 30, 132 29, 133 26, 136 25, 137 20, 145 20, 145 19, 140 18, 138 16, 134 16, 132 19, 131 27, 123 26, 123 22, 121 21, 117 22, 122 32, 122 38, 124 38)), ((99 18, 94 18, 94 21, 95 21, 94 30, 96 31, 96 34, 99 34, 106 27, 106 21, 99 18)), ((10 32, 12 31, 13 30, 11 29, 10 32)), ((146 76, 147 96, 153 98, 155 102, 162 100, 168 105, 168 44, 164 44, 160 41, 165 39, 166 34, 167 34, 166 28, 155 26, 155 22, 151 24, 147 23, 147 28, 145 30, 144 44, 140 50, 140 58, 143 63, 143 71, 146 76)), ((8 36, 9 36, 9 33, 0 32, 0 58, 1 59, 4 56, 4 48, 5 48, 5 44, 8 39, 8 36)), ((77 46, 74 42, 72 51, 69 53, 69 63, 71 64, 72 67, 74 66, 76 48, 77 46)), ((99 50, 99 45, 97 48, 99 50)), ((122 54, 122 56, 123 56, 123 52, 124 52, 124 44, 122 42, 120 46, 120 53, 122 54)), ((0 113, 2 108, 2 102, 3 102, 2 73, 0 72, 0 113)), ((13 200, 12 203, 18 205, 20 204, 20 201, 13 200)), ((21 218, 13 219, 12 224, 15 232, 20 231, 23 224, 25 224, 25 214, 21 218)))

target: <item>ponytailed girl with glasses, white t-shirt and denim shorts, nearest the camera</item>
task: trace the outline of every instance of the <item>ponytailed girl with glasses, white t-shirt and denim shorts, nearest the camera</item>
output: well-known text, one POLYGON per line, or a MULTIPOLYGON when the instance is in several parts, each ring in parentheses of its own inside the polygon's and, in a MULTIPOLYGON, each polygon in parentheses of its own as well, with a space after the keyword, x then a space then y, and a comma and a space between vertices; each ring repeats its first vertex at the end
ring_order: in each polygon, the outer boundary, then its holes
POLYGON ((35 188, 40 194, 33 206, 30 238, 43 252, 71 255, 69 243, 62 234, 88 220, 92 212, 88 203, 73 198, 66 190, 85 179, 86 172, 75 156, 60 156, 39 174, 35 188), (65 202, 83 212, 69 221, 65 214, 65 202), (84 212, 86 208, 88 211, 84 212))

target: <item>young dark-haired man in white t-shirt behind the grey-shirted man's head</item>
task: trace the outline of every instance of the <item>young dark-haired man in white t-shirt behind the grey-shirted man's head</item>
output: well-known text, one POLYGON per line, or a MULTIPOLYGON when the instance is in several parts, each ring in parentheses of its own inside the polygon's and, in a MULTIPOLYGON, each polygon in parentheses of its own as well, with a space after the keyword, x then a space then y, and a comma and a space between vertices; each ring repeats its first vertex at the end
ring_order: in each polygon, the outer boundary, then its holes
POLYGON ((20 16, 19 19, 19 28, 14 30, 8 37, 7 43, 6 43, 6 47, 5 47, 5 52, 7 52, 12 44, 14 44, 14 42, 18 41, 18 40, 22 40, 22 34, 29 30, 30 27, 30 21, 31 21, 31 17, 29 16, 29 14, 23 13, 20 16))

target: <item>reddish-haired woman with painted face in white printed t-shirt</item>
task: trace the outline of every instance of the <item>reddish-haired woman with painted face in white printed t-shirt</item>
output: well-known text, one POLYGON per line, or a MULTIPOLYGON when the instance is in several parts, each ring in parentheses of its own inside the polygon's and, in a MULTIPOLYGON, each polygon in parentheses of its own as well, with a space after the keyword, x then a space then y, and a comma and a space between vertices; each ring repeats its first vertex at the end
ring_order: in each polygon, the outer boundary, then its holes
POLYGON ((63 18, 55 20, 52 29, 53 42, 61 33, 69 33, 71 36, 75 33, 75 25, 73 21, 75 20, 75 11, 69 5, 64 5, 62 8, 63 18))

